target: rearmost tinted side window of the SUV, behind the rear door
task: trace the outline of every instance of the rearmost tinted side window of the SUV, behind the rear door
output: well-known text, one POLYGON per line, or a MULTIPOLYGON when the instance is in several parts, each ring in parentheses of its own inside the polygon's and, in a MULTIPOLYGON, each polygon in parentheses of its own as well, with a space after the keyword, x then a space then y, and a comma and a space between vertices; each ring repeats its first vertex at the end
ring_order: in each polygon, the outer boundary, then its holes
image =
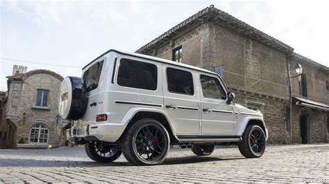
POLYGON ((137 89, 157 89, 158 70, 154 64, 137 62, 131 59, 121 59, 117 83, 137 89))

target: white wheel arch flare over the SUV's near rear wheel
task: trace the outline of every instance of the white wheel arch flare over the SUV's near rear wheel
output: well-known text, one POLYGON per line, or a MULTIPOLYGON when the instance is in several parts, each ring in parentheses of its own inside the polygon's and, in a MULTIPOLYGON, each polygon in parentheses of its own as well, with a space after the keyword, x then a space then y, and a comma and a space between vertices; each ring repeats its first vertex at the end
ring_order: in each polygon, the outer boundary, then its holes
MULTIPOLYGON (((133 110, 133 109, 131 109, 131 110, 133 110)), ((122 135, 124 135, 126 133, 126 130, 128 129, 128 127, 130 127, 132 125, 133 122, 144 119, 144 118, 153 118, 153 119, 161 122, 161 124, 168 131, 170 142, 178 142, 178 138, 176 137, 174 127, 171 125, 169 117, 164 112, 162 112, 160 110, 157 111, 156 109, 138 109, 138 110, 135 109, 135 111, 133 113, 130 113, 129 118, 128 117, 124 118, 124 119, 127 119, 126 122, 128 123, 128 125, 126 126, 124 133, 122 135)), ((121 137, 119 138, 119 140, 120 139, 121 139, 121 137)))

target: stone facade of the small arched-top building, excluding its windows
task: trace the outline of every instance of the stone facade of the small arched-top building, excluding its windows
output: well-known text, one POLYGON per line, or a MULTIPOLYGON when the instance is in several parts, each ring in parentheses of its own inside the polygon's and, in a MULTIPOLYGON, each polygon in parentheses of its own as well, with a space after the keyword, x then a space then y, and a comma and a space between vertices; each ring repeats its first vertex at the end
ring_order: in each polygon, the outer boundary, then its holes
POLYGON ((51 71, 37 70, 13 78, 15 80, 10 79, 7 114, 16 120, 17 142, 35 144, 29 142, 31 127, 41 124, 49 130, 47 145, 63 145, 62 119, 58 116, 62 77, 51 71), (37 89, 49 90, 46 108, 35 106, 37 89))

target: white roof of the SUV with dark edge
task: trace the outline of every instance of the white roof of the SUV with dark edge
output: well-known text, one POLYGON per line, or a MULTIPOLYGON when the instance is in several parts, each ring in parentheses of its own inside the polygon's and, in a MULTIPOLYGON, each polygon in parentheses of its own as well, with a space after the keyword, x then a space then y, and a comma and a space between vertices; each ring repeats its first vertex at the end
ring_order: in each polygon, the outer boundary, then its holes
POLYGON ((87 66, 89 66, 93 62, 96 62, 96 60, 98 60, 99 58, 103 57, 104 55, 106 55, 106 54, 108 54, 110 52, 119 53, 121 55, 129 55, 129 56, 133 56, 133 57, 140 57, 142 59, 152 60, 153 62, 162 62, 162 63, 165 63, 165 64, 170 64, 170 65, 175 65, 175 66, 181 66, 183 68, 190 68, 192 70, 202 71, 202 72, 205 72, 205 73, 212 73, 214 75, 218 75, 217 73, 214 73, 212 71, 208 71, 208 70, 205 70, 203 68, 199 68, 199 67, 192 66, 192 65, 189 65, 189 64, 183 64, 183 63, 173 62, 173 61, 170 61, 170 60, 167 60, 167 59, 162 59, 162 58, 159 58, 159 57, 153 57, 153 56, 149 56, 149 55, 142 55, 142 54, 138 54, 138 53, 129 53, 129 52, 126 52, 126 51, 115 50, 115 49, 110 49, 110 50, 106 51, 105 53, 103 53, 102 55, 100 55, 99 57, 96 57, 96 59, 92 60, 92 62, 90 62, 89 64, 87 64, 86 66, 84 66, 83 69, 85 69, 87 66))

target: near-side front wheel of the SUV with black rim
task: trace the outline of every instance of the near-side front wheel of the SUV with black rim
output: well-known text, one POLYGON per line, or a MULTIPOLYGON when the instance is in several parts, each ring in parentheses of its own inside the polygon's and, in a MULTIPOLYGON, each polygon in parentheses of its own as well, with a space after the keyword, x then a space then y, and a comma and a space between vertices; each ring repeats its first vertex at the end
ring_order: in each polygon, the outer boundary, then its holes
POLYGON ((246 158, 258 158, 264 154, 266 148, 266 136, 258 125, 248 125, 242 141, 238 144, 240 153, 246 158))

